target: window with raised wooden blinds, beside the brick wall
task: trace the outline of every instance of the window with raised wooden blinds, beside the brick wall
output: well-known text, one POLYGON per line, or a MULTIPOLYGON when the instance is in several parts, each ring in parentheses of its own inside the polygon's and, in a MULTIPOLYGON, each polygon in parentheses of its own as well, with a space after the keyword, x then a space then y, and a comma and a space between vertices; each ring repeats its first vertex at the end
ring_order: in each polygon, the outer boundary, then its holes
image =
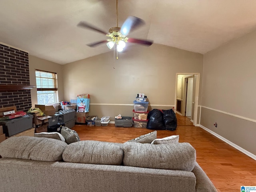
POLYGON ((36 69, 36 88, 38 104, 57 102, 57 73, 36 69))

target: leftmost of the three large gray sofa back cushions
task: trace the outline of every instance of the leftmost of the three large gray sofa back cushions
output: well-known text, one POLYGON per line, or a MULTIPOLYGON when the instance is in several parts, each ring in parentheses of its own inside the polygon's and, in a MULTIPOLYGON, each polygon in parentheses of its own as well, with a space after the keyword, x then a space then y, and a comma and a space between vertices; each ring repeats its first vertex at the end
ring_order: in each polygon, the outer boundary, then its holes
POLYGON ((63 141, 31 136, 10 137, 0 143, 2 158, 36 161, 61 161, 67 146, 63 141))

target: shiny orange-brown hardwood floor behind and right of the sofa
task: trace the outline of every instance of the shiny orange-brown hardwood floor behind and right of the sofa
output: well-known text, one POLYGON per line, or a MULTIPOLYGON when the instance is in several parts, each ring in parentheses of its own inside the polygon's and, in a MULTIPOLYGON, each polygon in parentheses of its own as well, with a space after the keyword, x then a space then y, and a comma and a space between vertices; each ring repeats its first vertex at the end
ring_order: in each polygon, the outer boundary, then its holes
MULTIPOLYGON (((192 125, 186 117, 176 114, 175 131, 157 130, 157 138, 180 135, 179 142, 189 142, 196 149, 197 162, 219 192, 240 192, 241 186, 256 186, 256 161, 229 144, 192 125)), ((152 132, 146 128, 118 128, 78 125, 72 128, 81 140, 124 143, 142 134, 152 132)))

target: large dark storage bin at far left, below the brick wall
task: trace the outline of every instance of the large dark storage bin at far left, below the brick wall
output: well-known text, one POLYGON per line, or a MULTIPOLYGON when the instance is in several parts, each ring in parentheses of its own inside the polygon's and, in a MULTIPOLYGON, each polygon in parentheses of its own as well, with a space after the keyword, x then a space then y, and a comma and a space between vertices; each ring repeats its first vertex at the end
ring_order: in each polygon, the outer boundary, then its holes
POLYGON ((0 125, 3 126, 3 131, 7 137, 20 133, 32 128, 33 115, 24 115, 22 117, 0 120, 0 125))

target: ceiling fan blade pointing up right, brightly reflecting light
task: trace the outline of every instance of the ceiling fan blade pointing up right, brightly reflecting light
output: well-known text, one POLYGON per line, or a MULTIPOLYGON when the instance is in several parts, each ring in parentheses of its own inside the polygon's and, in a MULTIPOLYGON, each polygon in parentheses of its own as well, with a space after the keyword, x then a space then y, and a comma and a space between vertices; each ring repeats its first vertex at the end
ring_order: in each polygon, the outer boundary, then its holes
POLYGON ((142 26, 143 24, 145 24, 145 22, 142 19, 135 16, 128 16, 128 18, 125 20, 124 24, 122 25, 120 32, 123 35, 127 36, 131 30, 134 30, 139 26, 142 26))

